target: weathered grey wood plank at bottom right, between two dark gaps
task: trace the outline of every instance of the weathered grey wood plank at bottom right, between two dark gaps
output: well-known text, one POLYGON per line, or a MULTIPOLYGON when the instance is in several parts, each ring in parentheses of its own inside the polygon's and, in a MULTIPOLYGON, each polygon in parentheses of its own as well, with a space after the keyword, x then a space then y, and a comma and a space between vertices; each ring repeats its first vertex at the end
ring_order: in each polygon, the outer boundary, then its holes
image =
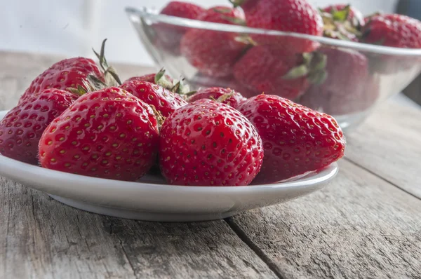
POLYGON ((341 161, 326 189, 229 219, 283 278, 420 278, 421 200, 341 161))

